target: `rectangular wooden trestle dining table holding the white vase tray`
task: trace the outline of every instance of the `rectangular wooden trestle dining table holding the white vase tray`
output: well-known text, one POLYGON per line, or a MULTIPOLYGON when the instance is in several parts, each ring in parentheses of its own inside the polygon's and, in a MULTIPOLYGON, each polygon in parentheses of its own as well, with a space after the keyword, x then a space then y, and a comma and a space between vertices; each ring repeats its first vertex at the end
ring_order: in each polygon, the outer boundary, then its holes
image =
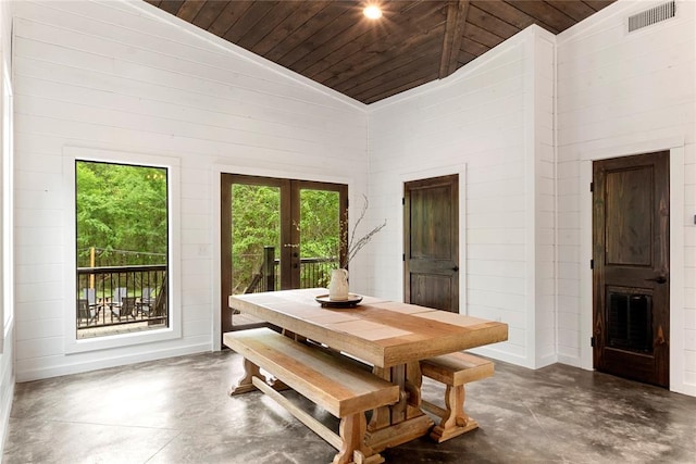
POLYGON ((400 401, 373 411, 365 442, 376 452, 424 436, 420 360, 505 341, 508 326, 415 304, 362 297, 355 308, 322 308, 326 289, 231 296, 229 308, 372 366, 399 386, 400 401))

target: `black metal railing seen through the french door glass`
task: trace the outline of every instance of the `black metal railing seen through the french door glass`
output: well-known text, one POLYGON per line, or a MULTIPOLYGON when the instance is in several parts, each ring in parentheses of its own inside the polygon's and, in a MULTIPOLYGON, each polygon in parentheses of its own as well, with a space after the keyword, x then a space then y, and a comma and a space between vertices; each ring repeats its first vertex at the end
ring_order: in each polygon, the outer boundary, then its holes
MULTIPOLYGON (((259 271, 249 279, 245 293, 279 290, 279 264, 281 261, 275 259, 275 249, 273 247, 264 247, 259 271)), ((328 287, 331 271, 337 266, 337 256, 301 258, 300 288, 328 287)))

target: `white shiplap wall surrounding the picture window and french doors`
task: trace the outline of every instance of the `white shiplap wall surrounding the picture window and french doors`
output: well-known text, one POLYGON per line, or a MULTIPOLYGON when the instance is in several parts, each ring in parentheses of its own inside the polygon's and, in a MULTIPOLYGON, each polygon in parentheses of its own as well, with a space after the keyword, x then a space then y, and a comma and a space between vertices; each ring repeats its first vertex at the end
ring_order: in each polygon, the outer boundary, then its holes
MULTIPOLYGON (((146 2, 16 4, 18 380, 212 349, 219 337, 219 173, 365 191, 366 111, 146 2), (73 149, 77 147, 77 149, 73 149), (66 354, 65 153, 175 159, 182 337, 66 354), (217 327, 217 329, 215 328, 217 327)), ((72 303, 71 303, 72 302, 72 303)))

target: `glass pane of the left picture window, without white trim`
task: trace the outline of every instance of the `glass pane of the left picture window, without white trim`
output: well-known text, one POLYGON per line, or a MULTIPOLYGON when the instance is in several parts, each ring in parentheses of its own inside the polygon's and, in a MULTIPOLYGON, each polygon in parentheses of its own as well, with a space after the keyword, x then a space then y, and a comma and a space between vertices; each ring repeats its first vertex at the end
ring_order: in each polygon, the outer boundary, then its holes
POLYGON ((77 338, 169 326, 167 171, 76 161, 77 338))

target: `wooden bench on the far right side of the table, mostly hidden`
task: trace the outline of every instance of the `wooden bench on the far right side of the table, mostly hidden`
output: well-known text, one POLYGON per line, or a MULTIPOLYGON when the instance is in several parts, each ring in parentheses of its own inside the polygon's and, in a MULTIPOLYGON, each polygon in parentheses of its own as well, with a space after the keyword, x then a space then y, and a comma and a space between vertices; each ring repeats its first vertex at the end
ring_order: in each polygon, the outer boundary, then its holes
POLYGON ((440 417, 433 427, 431 438, 438 443, 478 427, 464 413, 464 384, 490 377, 494 364, 473 354, 457 352, 421 361, 421 374, 447 386, 445 409, 421 400, 421 406, 440 417))

